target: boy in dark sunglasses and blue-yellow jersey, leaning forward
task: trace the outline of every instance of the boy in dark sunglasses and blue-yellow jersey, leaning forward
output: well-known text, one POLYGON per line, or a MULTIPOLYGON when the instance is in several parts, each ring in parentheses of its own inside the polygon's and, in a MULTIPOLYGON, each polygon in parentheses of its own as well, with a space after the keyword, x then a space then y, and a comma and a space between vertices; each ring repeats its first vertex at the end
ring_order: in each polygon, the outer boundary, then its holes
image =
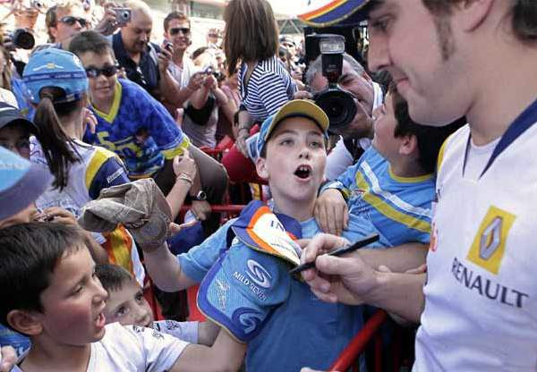
MULTIPOLYGON (((191 146, 166 108, 131 80, 117 78, 114 50, 107 38, 95 31, 84 31, 72 38, 70 50, 81 58, 90 76, 91 110, 96 115, 96 131, 86 131, 84 140, 103 146, 121 156, 129 178, 152 177, 169 197, 178 173, 174 159, 185 150, 197 170, 192 178, 192 208, 208 232, 217 230, 219 218, 209 217, 209 203, 224 198, 227 176, 217 161, 191 146), (200 194, 200 190, 203 193, 200 194)), ((178 199, 178 198, 176 198, 178 199)), ((183 200, 170 202, 174 218, 183 200), (178 207, 175 207, 177 205, 178 207)))

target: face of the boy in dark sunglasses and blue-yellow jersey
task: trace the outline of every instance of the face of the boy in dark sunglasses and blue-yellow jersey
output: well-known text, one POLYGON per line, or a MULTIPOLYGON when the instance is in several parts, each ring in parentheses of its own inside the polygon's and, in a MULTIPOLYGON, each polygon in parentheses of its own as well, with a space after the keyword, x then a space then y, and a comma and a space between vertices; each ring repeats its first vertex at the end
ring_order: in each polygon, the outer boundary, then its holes
MULTIPOLYGON (((98 55, 93 52, 86 52, 80 55, 81 62, 85 69, 96 68, 101 70, 106 67, 112 67, 115 65, 115 60, 112 55, 105 53, 98 55)), ((117 81, 117 74, 112 76, 105 76, 101 71, 95 78, 89 78, 90 93, 92 101, 100 102, 112 102, 114 99, 115 82, 117 81)))

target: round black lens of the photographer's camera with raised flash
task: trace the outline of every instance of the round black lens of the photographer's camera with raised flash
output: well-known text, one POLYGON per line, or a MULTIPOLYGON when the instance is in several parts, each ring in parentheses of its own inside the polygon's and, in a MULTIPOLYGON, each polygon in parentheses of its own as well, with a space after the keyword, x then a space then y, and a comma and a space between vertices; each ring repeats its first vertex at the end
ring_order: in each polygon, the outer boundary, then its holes
POLYGON ((328 131, 334 134, 339 134, 356 114, 353 95, 343 89, 327 89, 315 97, 315 103, 327 114, 330 123, 328 131))

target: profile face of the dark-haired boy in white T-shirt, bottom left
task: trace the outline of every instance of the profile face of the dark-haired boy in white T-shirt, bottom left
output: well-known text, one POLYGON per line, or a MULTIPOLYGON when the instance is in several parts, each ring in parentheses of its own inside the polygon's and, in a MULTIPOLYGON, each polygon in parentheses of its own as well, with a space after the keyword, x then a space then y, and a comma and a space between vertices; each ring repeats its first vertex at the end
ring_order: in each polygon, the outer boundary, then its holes
POLYGON ((39 336, 47 342, 84 346, 105 335, 107 291, 95 275, 95 262, 85 247, 64 255, 56 265, 50 285, 41 292, 43 312, 39 336))

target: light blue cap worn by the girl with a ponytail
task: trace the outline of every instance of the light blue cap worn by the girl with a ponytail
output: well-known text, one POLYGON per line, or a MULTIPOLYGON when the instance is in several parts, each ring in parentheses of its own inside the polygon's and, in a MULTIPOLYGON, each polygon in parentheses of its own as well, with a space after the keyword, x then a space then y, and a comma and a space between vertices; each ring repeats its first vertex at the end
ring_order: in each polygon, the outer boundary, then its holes
POLYGON ((79 57, 55 47, 31 55, 22 78, 34 104, 39 103, 39 93, 45 87, 64 89, 64 99, 55 103, 77 101, 88 90, 88 77, 79 57))

